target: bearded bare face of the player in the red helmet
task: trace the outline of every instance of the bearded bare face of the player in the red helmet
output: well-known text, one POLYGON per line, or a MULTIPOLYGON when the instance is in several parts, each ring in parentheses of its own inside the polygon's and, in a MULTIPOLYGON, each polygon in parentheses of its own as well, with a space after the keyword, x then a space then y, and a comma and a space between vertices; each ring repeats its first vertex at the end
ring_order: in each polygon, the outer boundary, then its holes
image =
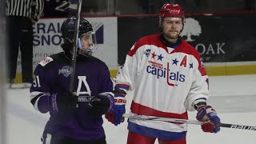
POLYGON ((182 30, 182 18, 166 17, 162 21, 162 32, 167 38, 178 38, 182 30))

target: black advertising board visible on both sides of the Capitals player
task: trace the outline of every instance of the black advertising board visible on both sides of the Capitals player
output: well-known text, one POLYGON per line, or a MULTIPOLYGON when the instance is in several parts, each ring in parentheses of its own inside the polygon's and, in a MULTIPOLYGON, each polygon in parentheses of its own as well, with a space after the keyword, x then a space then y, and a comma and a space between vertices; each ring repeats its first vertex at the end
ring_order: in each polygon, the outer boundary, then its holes
MULTIPOLYGON (((187 15, 181 36, 198 50, 203 62, 256 61, 254 17, 255 14, 187 15)), ((118 18, 118 64, 125 62, 138 38, 160 31, 157 16, 118 18)))

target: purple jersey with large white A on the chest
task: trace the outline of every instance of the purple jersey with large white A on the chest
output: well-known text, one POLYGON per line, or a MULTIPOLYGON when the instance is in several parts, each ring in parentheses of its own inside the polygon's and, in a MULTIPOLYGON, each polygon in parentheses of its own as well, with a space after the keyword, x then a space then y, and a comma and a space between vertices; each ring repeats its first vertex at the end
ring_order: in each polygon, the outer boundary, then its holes
POLYGON ((82 55, 77 58, 73 86, 73 92, 78 95, 77 110, 72 113, 58 113, 48 108, 50 94, 69 90, 70 63, 64 53, 43 59, 34 70, 30 102, 41 113, 50 112, 50 120, 45 127, 47 133, 85 141, 103 138, 105 132, 102 117, 91 115, 86 110, 91 96, 108 94, 114 97, 109 69, 98 58, 82 55))

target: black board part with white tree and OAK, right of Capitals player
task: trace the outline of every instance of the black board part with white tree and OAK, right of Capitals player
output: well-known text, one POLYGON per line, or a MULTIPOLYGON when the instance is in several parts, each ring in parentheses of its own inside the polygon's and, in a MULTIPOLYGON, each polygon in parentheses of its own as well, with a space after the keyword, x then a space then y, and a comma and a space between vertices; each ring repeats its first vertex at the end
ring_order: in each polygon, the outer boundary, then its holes
POLYGON ((204 62, 256 61, 255 14, 195 15, 186 18, 182 38, 204 62))

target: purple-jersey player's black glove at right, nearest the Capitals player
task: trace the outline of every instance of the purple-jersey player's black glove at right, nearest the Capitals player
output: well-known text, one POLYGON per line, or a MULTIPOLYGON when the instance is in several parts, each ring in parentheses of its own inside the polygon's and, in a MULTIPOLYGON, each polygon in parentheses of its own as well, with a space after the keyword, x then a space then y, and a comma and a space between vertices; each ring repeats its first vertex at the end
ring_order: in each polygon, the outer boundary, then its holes
POLYGON ((87 107, 90 114, 101 116, 106 114, 114 105, 114 98, 110 95, 99 94, 92 98, 87 107))

